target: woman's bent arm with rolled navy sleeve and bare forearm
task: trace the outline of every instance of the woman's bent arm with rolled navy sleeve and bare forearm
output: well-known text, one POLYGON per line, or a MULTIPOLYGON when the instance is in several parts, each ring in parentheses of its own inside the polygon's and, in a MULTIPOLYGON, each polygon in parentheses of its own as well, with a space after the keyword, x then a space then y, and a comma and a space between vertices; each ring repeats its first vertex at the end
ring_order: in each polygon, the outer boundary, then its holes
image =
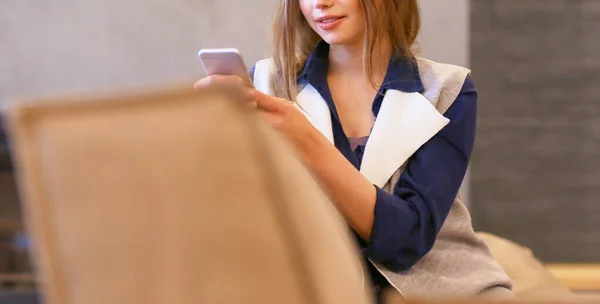
POLYGON ((450 123, 409 159, 393 194, 373 186, 320 134, 300 141, 308 166, 369 244, 369 258, 405 270, 429 252, 469 165, 476 111, 477 92, 467 78, 445 113, 450 123))

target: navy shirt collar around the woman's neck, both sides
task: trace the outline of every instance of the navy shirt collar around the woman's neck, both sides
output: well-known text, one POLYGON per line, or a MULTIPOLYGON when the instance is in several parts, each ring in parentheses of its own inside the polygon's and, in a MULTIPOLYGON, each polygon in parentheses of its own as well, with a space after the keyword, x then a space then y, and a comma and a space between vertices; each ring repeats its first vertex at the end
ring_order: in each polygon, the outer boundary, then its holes
MULTIPOLYGON (((328 55, 329 44, 321 40, 306 61, 298 80, 308 81, 313 86, 327 83, 328 55)), ((397 90, 405 93, 422 93, 425 91, 415 60, 399 57, 390 59, 380 91, 386 90, 397 90)))

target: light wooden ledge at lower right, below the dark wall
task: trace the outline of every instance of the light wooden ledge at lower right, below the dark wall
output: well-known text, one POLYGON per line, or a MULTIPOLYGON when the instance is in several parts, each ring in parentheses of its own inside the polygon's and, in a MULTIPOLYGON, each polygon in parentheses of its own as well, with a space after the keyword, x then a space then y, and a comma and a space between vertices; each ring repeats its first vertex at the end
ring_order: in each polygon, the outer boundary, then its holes
POLYGON ((573 291, 600 291, 600 264, 546 264, 546 268, 573 291))

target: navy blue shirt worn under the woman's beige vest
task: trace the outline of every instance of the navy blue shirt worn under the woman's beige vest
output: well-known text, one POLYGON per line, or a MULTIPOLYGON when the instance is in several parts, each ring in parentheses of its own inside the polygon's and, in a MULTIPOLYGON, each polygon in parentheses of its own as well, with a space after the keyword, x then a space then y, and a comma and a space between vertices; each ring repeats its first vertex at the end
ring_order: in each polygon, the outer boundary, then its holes
MULTIPOLYGON (((353 151, 342 128, 327 83, 328 54, 329 45, 320 42, 298 82, 311 84, 325 99, 331 110, 334 144, 360 169, 364 146, 353 151)), ((407 58, 390 60, 379 94, 373 100, 375 117, 387 90, 422 93, 417 64, 407 58)), ((393 193, 377 188, 371 239, 363 240, 354 233, 365 258, 393 271, 406 271, 431 250, 467 171, 475 140, 476 112, 477 91, 469 76, 444 113, 449 124, 410 157, 393 193)), ((367 265, 376 291, 389 285, 371 263, 367 265)))

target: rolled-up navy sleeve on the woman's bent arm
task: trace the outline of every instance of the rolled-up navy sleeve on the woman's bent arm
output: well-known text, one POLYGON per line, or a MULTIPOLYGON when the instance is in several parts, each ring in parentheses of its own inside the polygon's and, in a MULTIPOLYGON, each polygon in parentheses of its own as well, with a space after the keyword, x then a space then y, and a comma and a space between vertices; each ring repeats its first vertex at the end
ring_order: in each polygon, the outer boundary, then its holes
POLYGON ((404 271, 431 250, 469 165, 476 114, 477 91, 468 76, 444 114, 450 122, 411 156, 393 194, 377 188, 368 258, 404 271))

